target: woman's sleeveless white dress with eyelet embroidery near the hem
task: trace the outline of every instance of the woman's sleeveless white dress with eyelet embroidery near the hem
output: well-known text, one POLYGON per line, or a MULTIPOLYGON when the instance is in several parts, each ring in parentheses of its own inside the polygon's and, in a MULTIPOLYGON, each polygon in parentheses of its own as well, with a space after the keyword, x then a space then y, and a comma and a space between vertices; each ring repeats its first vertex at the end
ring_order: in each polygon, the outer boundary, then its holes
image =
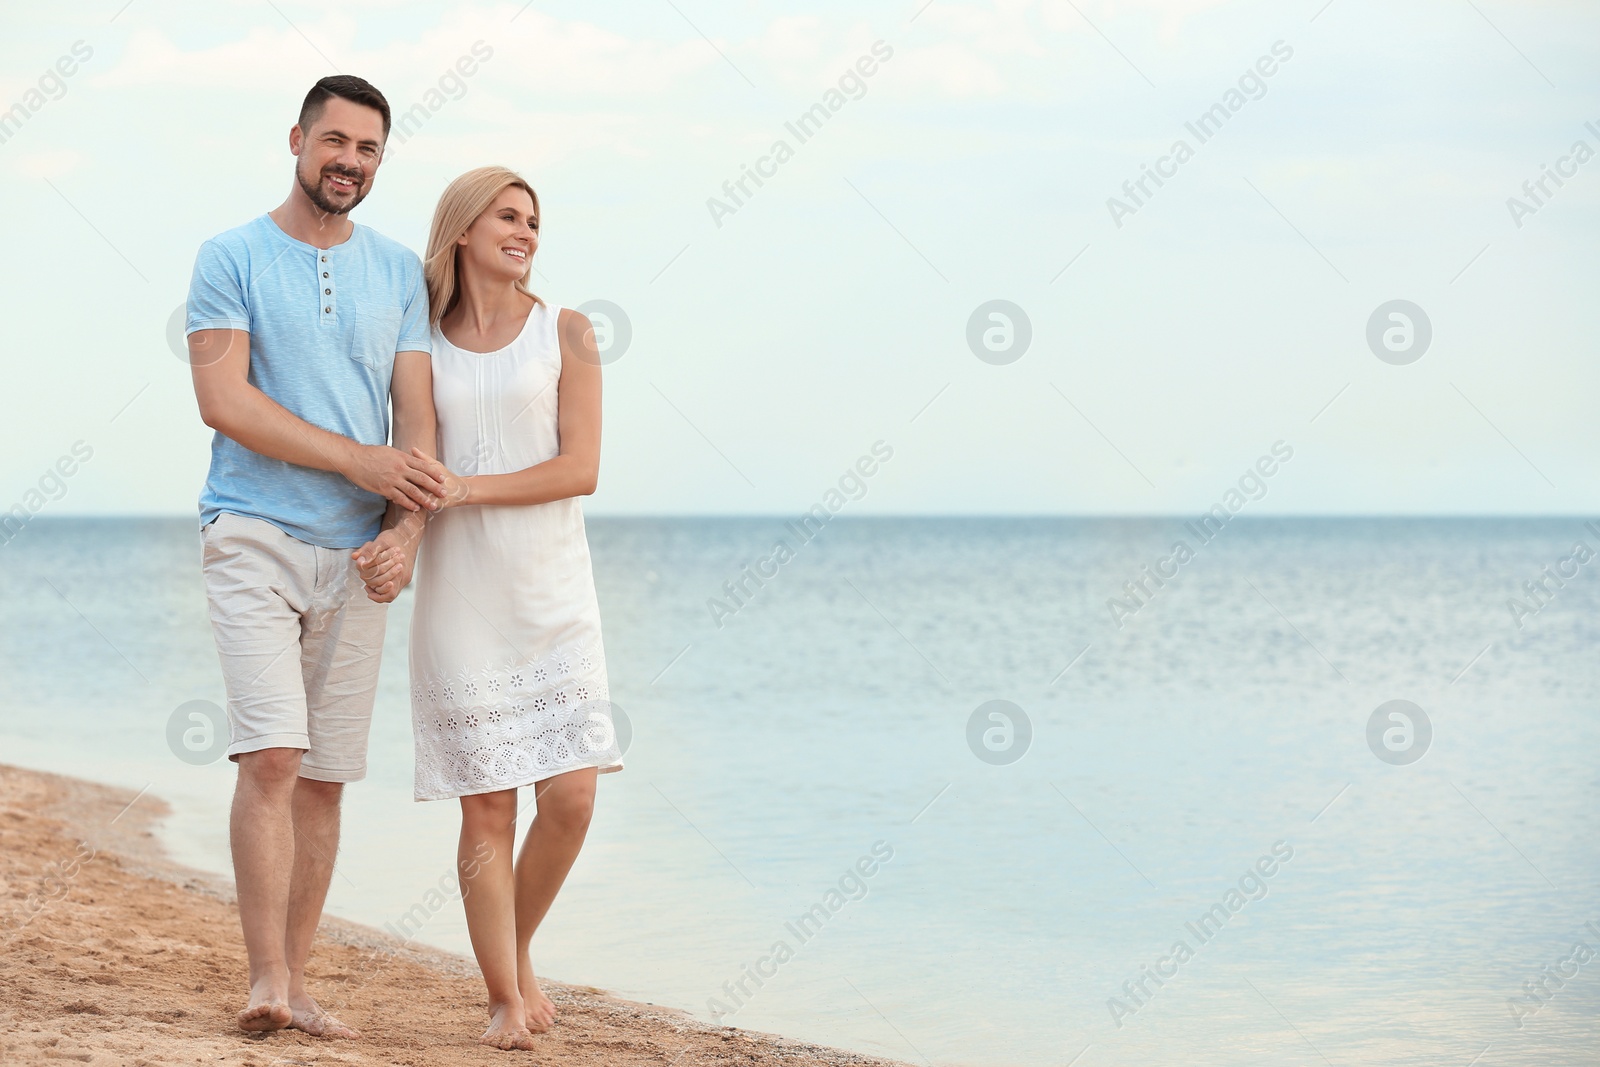
MULTIPOLYGON (((510 474, 560 453, 558 310, 534 304, 517 339, 488 354, 458 349, 434 328, 446 467, 510 474)), ((622 769, 578 498, 435 514, 414 582, 418 800, 622 769)))

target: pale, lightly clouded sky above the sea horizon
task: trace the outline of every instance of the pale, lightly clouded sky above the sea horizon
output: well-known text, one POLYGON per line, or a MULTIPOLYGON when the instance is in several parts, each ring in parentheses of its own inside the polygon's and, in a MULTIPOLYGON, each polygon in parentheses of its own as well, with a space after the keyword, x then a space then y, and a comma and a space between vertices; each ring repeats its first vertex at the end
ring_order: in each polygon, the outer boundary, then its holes
POLYGON ((0 0, 0 510, 197 512, 173 314, 346 72, 413 115, 352 218, 421 251, 504 163, 534 291, 626 315, 590 515, 795 515, 875 448, 846 514, 1198 514, 1262 458, 1246 514, 1581 514, 1597 51, 1504 0, 0 0))

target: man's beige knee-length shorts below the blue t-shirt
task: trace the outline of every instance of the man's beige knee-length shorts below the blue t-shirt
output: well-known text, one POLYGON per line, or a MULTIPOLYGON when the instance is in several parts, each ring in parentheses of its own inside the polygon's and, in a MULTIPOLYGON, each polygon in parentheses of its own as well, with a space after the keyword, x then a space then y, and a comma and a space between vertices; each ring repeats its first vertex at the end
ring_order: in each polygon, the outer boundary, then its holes
POLYGON ((301 777, 366 777, 387 605, 366 598, 352 550, 230 512, 200 541, 227 686, 227 757, 304 749, 301 777))

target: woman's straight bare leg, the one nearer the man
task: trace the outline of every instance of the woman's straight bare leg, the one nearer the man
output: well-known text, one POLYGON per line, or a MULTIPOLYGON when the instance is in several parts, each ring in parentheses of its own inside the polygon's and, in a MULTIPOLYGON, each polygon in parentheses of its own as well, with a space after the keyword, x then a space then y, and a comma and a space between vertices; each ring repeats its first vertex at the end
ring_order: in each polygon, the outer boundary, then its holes
POLYGON ((456 846, 461 904, 490 993, 490 1029, 478 1040, 499 1049, 533 1049, 517 987, 515 846, 515 789, 461 798, 461 843, 456 846))

